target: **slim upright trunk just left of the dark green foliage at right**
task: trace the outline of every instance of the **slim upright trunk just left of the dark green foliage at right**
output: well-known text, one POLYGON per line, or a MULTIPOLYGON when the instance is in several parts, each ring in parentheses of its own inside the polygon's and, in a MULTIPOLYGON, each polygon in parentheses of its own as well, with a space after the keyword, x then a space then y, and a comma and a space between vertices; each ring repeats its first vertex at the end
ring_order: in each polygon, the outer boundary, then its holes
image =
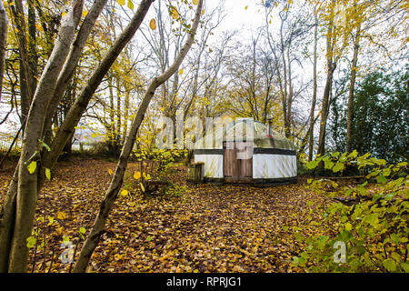
POLYGON ((346 151, 351 152, 351 135, 352 135, 352 124, 353 124, 353 103, 354 103, 354 85, 356 79, 356 70, 358 63, 358 53, 359 53, 359 39, 361 33, 361 25, 358 25, 356 29, 355 41, 354 41, 354 56, 351 68, 351 83, 349 84, 349 94, 348 94, 348 109, 346 118, 346 151))

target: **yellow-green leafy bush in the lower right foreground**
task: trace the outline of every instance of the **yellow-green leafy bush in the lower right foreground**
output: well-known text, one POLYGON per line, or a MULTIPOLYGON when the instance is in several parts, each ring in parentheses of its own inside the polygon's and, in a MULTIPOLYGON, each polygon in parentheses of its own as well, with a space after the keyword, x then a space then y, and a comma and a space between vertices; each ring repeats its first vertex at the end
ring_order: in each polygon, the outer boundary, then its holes
MULTIPOLYGON (((308 179, 309 188, 334 199, 324 213, 334 236, 296 236, 305 250, 294 266, 314 272, 409 272, 409 179, 407 162, 387 165, 370 154, 333 154, 305 162, 334 173, 346 166, 365 172, 358 185, 340 186, 330 179, 308 179), (335 202, 336 201, 336 202, 335 202), (336 257, 345 247, 344 259, 336 257)), ((322 222, 323 224, 325 222, 322 222)))

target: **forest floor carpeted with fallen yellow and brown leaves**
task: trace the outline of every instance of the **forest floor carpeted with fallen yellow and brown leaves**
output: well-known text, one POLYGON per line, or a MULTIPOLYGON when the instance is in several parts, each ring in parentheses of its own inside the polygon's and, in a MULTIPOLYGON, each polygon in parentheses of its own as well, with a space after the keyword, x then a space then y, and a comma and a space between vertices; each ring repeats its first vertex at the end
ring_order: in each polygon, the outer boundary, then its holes
MULTIPOLYGON (((29 271, 70 271, 72 264, 60 258, 63 237, 74 250, 82 246, 79 230, 86 236, 93 225, 109 169, 115 163, 80 156, 59 163, 39 196, 29 271)), ((13 163, 0 170, 0 206, 13 170, 13 163)), ((130 163, 125 188, 131 196, 118 196, 88 272, 304 272, 291 266, 304 251, 294 235, 334 229, 322 225, 329 200, 308 190, 303 178, 264 188, 190 185, 186 167, 177 165, 168 194, 146 198, 132 190, 135 170, 130 163)))

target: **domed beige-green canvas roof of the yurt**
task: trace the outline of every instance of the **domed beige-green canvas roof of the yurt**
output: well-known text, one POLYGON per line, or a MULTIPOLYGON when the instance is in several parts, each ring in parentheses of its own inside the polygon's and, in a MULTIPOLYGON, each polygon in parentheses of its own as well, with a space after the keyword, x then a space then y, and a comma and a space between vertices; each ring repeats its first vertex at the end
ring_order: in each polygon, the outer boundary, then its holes
POLYGON ((219 125, 213 133, 195 143, 195 149, 222 148, 223 142, 253 141, 254 147, 294 150, 293 143, 268 126, 251 118, 240 118, 224 126, 219 125), (253 125, 253 132, 252 132, 253 125), (237 134, 237 135, 236 135, 237 134), (237 137, 239 136, 239 137, 237 137))

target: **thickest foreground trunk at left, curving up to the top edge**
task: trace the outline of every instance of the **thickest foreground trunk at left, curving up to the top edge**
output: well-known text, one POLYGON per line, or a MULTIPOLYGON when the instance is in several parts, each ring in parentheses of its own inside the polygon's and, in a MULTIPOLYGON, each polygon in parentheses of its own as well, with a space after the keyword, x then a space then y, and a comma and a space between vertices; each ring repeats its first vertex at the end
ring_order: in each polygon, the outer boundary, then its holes
POLYGON ((39 158, 39 143, 42 139, 47 105, 55 90, 55 82, 69 46, 73 41, 75 15, 82 14, 83 0, 76 0, 69 12, 63 17, 59 35, 53 53, 50 56, 40 82, 35 90, 33 102, 27 116, 25 136, 23 139, 20 166, 18 171, 18 186, 16 196, 15 230, 10 249, 8 271, 25 272, 28 257, 26 238, 31 236, 33 229, 35 206, 37 199, 37 175, 41 171, 36 166, 35 173, 30 174, 26 162, 35 162, 39 158))

